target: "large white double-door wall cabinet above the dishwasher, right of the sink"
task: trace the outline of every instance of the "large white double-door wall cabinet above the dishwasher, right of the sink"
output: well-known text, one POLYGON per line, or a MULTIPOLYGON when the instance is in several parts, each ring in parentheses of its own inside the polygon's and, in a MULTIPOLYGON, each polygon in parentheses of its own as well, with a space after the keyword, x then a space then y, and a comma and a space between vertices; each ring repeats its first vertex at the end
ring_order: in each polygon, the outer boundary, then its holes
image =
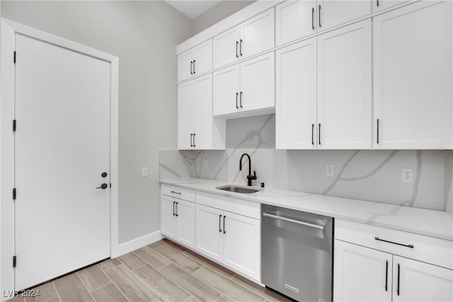
POLYGON ((365 20, 277 50, 277 149, 371 148, 371 47, 365 20))

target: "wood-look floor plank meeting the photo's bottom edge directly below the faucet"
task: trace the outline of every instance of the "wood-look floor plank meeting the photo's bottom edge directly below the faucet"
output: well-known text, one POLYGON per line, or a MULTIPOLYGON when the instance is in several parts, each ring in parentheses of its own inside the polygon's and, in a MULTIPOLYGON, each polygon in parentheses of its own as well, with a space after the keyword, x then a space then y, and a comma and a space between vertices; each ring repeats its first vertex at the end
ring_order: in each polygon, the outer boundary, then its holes
POLYGON ((257 294, 245 289, 243 286, 237 284, 230 279, 226 279, 217 272, 214 272, 212 269, 207 267, 202 267, 198 269, 197 272, 193 274, 195 277, 202 279, 210 286, 214 287, 218 291, 221 291, 226 296, 229 296, 234 301, 264 301, 265 298, 258 296, 257 294))

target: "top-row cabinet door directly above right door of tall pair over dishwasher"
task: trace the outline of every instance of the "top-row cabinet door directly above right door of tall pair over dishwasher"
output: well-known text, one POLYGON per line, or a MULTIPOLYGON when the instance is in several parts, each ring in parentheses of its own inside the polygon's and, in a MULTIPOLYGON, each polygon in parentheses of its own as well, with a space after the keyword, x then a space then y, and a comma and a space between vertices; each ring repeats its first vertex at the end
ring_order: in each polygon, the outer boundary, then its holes
MULTIPOLYGON (((384 2, 384 1, 382 1, 384 2)), ((319 30, 325 30, 371 13, 369 0, 318 0, 319 30)))

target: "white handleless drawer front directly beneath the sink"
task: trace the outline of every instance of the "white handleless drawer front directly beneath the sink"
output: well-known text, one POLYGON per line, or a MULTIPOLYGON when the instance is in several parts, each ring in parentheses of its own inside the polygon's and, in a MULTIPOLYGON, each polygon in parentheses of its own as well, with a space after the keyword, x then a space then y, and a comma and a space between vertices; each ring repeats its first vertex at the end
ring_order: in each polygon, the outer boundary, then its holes
POLYGON ((260 204, 246 200, 224 197, 216 194, 197 192, 197 204, 229 211, 231 213, 260 219, 260 204))

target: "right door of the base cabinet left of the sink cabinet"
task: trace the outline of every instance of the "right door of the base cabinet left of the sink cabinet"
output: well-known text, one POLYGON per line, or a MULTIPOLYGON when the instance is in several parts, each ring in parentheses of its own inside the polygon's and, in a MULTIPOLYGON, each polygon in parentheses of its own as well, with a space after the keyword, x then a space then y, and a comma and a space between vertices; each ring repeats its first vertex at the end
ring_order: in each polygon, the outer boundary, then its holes
POLYGON ((182 199, 177 200, 176 214, 178 215, 177 240, 189 248, 195 248, 195 203, 182 199))

